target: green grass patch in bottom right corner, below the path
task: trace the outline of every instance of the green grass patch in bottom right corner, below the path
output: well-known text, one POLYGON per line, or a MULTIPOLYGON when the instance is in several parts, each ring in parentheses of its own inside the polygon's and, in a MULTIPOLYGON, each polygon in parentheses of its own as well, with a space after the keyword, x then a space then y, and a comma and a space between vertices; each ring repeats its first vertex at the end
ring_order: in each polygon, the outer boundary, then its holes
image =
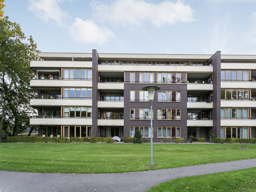
POLYGON ((153 191, 256 191, 256 168, 174 179, 147 192, 153 191))

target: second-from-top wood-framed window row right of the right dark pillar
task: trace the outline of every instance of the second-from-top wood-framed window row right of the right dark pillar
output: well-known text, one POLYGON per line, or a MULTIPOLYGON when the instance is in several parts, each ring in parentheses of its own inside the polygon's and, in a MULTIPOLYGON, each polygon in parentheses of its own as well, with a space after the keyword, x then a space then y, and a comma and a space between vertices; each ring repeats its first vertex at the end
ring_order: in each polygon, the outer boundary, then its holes
POLYGON ((221 90, 221 99, 248 100, 251 90, 221 90))

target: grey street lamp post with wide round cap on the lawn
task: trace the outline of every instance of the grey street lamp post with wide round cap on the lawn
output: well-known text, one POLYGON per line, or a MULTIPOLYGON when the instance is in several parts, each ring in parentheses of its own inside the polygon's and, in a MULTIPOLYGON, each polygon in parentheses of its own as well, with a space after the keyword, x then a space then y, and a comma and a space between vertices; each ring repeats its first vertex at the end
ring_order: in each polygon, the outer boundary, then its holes
POLYGON ((150 100, 150 134, 151 134, 151 138, 150 138, 150 145, 151 145, 151 161, 150 161, 150 166, 153 166, 153 127, 152 127, 152 118, 153 118, 153 111, 152 111, 152 105, 153 105, 153 100, 154 100, 154 94, 155 91, 159 90, 160 87, 159 86, 145 86, 142 88, 142 90, 147 91, 148 92, 148 99, 150 100))

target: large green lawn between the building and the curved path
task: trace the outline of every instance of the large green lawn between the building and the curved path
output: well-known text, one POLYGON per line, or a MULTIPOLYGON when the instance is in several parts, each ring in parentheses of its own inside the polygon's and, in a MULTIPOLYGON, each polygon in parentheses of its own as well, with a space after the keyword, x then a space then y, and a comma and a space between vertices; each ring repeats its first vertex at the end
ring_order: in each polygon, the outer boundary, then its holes
POLYGON ((132 143, 0 143, 0 170, 17 172, 134 172, 256 158, 256 145, 132 143))

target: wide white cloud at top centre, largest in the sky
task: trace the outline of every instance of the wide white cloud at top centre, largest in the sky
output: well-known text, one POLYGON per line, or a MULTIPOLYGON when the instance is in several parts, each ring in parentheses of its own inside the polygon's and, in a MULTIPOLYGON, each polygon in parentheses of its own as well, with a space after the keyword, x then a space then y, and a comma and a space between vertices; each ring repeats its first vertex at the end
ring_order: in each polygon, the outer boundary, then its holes
POLYGON ((164 1, 160 4, 144 0, 116 0, 111 4, 93 1, 93 18, 116 26, 143 26, 147 22, 156 27, 170 26, 180 22, 193 22, 193 10, 181 1, 164 1))

